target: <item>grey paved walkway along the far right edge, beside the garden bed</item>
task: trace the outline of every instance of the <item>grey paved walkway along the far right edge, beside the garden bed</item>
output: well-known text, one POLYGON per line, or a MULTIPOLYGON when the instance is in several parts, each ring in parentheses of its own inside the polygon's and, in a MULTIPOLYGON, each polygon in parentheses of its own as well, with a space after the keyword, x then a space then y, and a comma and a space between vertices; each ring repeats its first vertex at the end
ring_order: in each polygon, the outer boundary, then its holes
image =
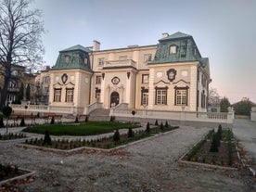
POLYGON ((256 122, 236 119, 233 132, 247 152, 246 158, 251 161, 251 168, 256 171, 256 122))

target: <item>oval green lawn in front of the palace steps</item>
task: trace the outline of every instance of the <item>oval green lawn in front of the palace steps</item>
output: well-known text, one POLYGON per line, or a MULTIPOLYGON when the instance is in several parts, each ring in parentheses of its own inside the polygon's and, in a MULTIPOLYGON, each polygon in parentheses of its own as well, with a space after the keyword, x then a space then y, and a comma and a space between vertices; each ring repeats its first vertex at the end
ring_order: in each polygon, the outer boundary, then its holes
POLYGON ((45 134, 48 130, 51 135, 96 135, 111 133, 116 129, 140 127, 131 122, 84 122, 80 124, 47 124, 28 127, 23 132, 45 134))

